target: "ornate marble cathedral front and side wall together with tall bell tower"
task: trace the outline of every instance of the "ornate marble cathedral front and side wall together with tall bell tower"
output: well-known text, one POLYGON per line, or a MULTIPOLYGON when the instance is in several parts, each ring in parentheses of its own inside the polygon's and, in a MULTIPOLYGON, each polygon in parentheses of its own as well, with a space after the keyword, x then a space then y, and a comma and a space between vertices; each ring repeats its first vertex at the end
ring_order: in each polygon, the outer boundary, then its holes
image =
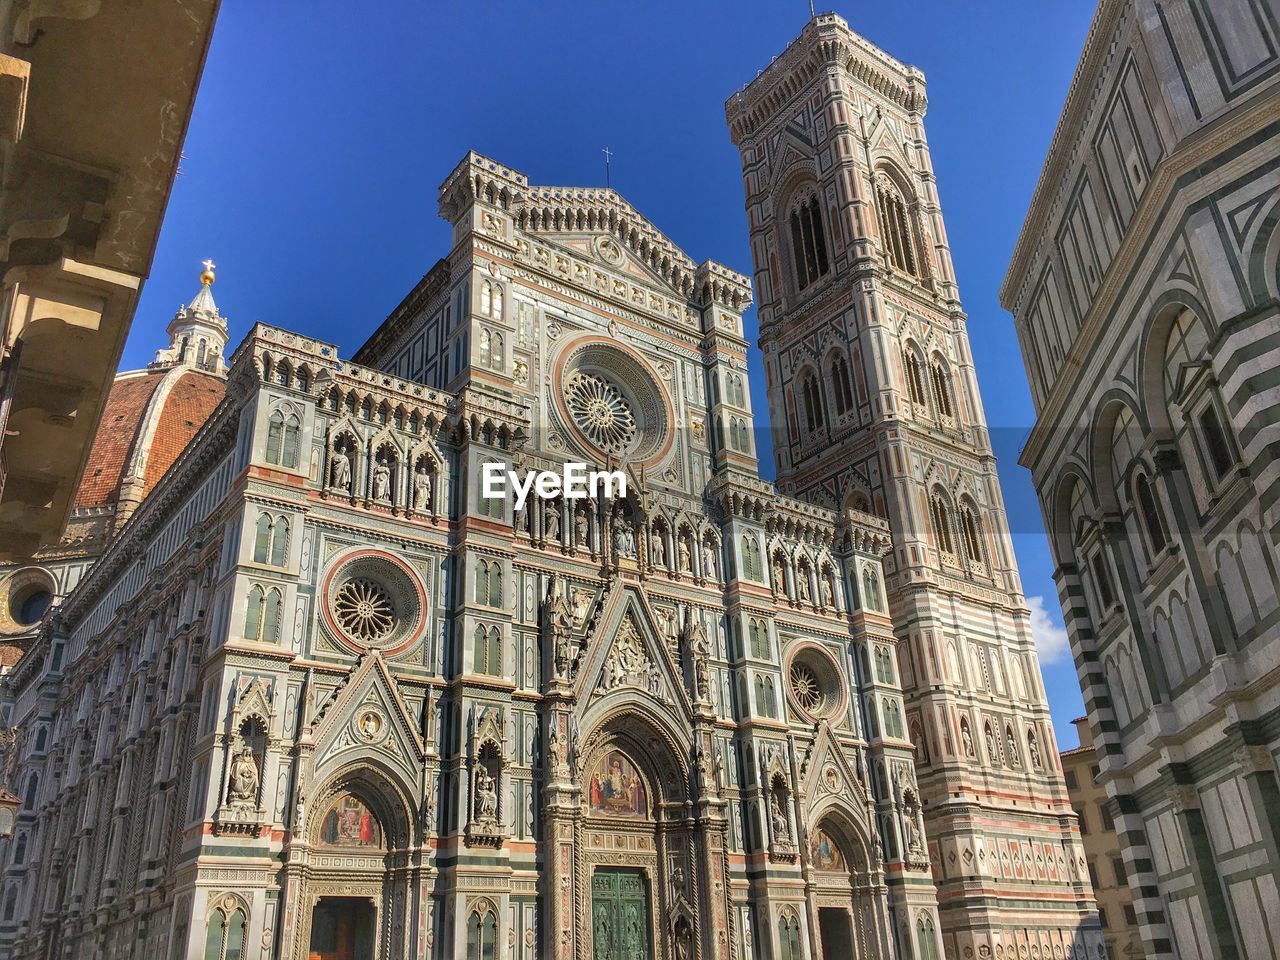
POLYGON ((8 676, 0 951, 1101 956, 924 106, 833 15, 728 101, 777 485, 751 282, 612 189, 468 154, 351 361, 255 325, 8 676))

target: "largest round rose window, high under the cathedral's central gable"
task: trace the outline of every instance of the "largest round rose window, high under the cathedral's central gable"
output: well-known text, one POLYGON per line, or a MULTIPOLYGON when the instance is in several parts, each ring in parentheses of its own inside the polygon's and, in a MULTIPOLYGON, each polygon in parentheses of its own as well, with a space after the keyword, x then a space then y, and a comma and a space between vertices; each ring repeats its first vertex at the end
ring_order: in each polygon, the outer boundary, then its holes
POLYGON ((671 443, 671 408, 657 376, 612 343, 570 344, 557 361, 557 411, 582 445, 616 458, 652 461, 671 443))

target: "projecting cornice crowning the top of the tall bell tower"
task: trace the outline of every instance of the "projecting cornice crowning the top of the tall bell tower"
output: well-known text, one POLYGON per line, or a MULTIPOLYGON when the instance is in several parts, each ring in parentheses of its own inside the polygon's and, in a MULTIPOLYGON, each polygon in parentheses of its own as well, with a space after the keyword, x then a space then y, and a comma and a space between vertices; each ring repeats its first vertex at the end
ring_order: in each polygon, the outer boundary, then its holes
POLYGON ((924 74, 856 35, 844 18, 824 13, 810 19, 786 50, 724 104, 733 143, 756 134, 809 88, 813 77, 833 67, 908 113, 924 114, 924 74))

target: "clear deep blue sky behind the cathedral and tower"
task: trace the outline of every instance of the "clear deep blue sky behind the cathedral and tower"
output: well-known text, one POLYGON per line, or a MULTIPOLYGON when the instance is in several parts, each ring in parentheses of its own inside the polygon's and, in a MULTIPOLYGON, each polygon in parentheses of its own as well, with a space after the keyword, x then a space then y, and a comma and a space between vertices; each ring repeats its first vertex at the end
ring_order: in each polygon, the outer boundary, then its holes
MULTIPOLYGON (((1030 396, 997 296, 1093 5, 833 10, 928 78, 925 127, 1023 586, 1044 611, 1038 641, 1060 746, 1074 746, 1079 686, 1030 476, 1016 463, 1030 396)), ((224 0, 123 367, 163 346, 205 257, 219 266, 233 343, 262 320, 351 356, 447 251, 436 188, 470 148, 532 183, 596 186, 608 146, 614 188, 694 260, 750 274, 724 100, 808 15, 806 0, 224 0)), ((764 378, 751 361, 760 415, 764 378)), ((763 447, 762 460, 772 475, 763 447)))

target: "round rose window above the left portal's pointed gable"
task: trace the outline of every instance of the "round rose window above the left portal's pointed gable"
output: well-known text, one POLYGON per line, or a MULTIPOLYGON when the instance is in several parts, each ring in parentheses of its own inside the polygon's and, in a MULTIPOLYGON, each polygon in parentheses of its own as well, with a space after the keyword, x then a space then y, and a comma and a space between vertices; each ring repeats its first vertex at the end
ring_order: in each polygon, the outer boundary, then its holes
POLYGON ((330 631, 355 650, 392 655, 419 636, 426 589, 404 561, 383 550, 356 550, 325 576, 323 614, 330 631))

